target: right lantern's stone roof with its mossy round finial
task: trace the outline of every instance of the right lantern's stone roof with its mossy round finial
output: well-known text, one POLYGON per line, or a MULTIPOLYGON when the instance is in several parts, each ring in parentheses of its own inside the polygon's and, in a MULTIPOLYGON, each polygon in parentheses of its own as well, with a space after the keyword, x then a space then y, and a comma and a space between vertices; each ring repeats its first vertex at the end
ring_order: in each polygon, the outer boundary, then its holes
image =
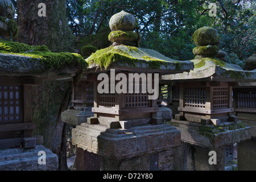
POLYGON ((256 81, 256 69, 244 71, 236 64, 226 63, 225 52, 216 46, 220 41, 217 30, 201 27, 192 36, 197 47, 193 48, 196 55, 191 62, 194 69, 175 75, 162 76, 163 80, 174 81, 256 81))

